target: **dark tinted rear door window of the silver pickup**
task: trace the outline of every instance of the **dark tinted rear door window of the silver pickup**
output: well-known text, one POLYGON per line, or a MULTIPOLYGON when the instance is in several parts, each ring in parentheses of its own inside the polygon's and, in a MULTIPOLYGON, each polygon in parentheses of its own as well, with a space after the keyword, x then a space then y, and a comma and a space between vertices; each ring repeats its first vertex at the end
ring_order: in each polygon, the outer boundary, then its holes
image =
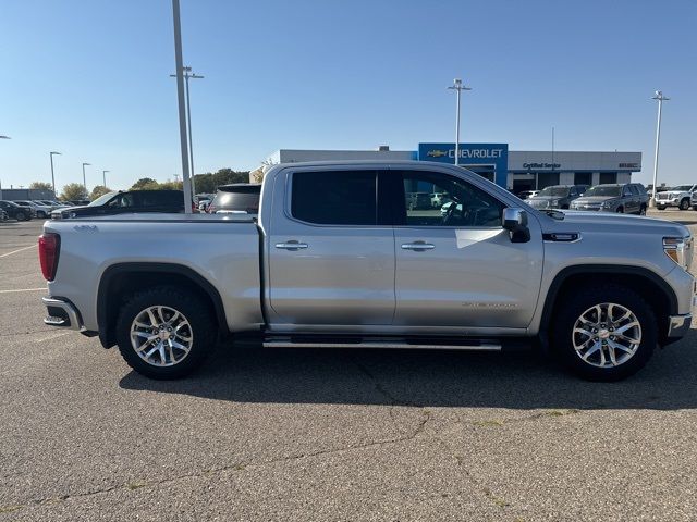
POLYGON ((375 225, 376 172, 330 171, 293 174, 293 217, 319 225, 375 225))

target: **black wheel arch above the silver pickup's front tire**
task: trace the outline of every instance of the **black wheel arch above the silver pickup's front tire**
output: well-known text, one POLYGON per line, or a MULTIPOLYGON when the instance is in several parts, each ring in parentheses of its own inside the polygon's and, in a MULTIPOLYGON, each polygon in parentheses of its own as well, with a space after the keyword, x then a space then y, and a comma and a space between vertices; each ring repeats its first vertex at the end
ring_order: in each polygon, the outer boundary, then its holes
POLYGON ((540 319, 540 335, 543 345, 558 302, 583 285, 611 282, 627 286, 647 300, 658 321, 661 344, 668 335, 668 316, 677 314, 677 296, 671 286, 656 272, 643 266, 585 264, 567 266, 561 270, 552 281, 545 299, 540 319))

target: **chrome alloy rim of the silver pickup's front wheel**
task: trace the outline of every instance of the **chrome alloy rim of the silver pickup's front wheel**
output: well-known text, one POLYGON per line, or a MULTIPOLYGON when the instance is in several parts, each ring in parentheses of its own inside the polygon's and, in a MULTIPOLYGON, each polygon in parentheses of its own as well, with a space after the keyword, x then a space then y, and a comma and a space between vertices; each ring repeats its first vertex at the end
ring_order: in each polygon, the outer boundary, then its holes
POLYGON ((628 308, 603 302, 576 320, 572 333, 576 355, 597 368, 627 362, 641 344, 641 325, 628 308))

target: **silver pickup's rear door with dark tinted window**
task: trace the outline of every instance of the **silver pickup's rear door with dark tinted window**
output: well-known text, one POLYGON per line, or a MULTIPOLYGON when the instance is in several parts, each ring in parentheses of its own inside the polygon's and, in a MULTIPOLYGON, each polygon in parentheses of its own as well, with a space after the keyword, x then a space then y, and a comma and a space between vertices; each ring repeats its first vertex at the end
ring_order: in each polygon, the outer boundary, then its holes
POLYGON ((381 224, 377 177, 375 169, 345 166, 289 167, 277 176, 265 231, 272 327, 392 323, 394 234, 381 224))

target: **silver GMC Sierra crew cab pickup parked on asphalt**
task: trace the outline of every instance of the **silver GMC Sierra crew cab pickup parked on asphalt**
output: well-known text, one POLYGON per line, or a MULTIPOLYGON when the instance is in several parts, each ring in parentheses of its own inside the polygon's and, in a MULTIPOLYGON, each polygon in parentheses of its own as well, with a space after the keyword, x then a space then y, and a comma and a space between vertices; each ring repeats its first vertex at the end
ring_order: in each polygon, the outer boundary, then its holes
POLYGON ((51 221, 39 253, 45 322, 118 345, 154 378, 189 373, 232 335, 283 348, 535 345, 611 381, 686 333, 695 293, 680 224, 538 211, 428 162, 277 165, 258 216, 51 221), (409 209, 414 192, 451 203, 409 209))

